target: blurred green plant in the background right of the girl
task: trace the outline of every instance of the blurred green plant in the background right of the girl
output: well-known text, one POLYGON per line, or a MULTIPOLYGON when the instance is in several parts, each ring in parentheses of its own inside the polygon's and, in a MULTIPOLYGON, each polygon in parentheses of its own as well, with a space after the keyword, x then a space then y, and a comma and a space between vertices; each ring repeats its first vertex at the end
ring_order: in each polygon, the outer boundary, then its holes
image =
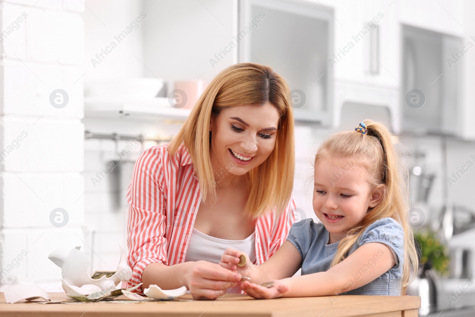
POLYGON ((420 263, 426 264, 428 260, 432 263, 432 268, 441 275, 448 274, 448 249, 437 238, 434 231, 421 231, 414 233, 414 240, 420 250, 420 263))

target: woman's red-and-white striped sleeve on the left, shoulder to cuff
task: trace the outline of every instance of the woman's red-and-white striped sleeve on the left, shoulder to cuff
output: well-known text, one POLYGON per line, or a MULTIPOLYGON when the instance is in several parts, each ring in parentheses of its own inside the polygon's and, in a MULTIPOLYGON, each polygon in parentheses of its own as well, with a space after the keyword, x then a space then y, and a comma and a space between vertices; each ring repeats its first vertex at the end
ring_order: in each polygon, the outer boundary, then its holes
POLYGON ((168 264, 163 151, 162 147, 153 146, 140 155, 127 190, 127 260, 132 268, 128 287, 141 283, 148 264, 168 264))

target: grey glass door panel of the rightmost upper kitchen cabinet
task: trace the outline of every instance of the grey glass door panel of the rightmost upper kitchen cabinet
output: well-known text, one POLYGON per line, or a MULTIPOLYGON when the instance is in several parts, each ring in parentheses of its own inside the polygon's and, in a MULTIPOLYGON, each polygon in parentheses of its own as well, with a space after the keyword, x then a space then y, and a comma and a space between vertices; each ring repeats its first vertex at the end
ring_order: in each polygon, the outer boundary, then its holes
POLYGON ((402 41, 402 130, 461 135, 462 39, 404 25, 402 41))

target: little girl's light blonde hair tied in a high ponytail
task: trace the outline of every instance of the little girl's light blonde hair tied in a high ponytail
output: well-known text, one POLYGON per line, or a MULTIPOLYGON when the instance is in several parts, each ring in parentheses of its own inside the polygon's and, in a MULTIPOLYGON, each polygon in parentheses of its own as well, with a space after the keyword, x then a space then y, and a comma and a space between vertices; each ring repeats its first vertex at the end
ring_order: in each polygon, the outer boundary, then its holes
POLYGON ((352 228, 338 244, 332 266, 348 256, 349 250, 361 234, 374 221, 391 217, 398 221, 404 230, 404 264, 402 269, 401 295, 409 285, 409 271, 417 273, 418 256, 414 246, 414 236, 409 225, 408 173, 403 173, 401 155, 395 146, 399 141, 388 128, 378 122, 364 120, 367 134, 357 131, 343 131, 326 139, 315 155, 315 164, 327 155, 353 157, 371 175, 371 188, 384 184, 381 202, 366 213, 357 227, 352 228))

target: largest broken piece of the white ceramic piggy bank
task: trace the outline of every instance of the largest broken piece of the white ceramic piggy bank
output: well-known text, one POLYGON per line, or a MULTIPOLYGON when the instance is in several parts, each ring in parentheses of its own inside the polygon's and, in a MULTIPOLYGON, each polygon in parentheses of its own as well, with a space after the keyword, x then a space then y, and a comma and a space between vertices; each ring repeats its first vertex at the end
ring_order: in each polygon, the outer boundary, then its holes
POLYGON ((87 259, 85 254, 79 250, 80 248, 76 247, 71 251, 56 250, 48 256, 48 259, 61 268, 61 275, 67 285, 80 288, 86 284, 93 284, 101 290, 114 290, 120 281, 128 281, 132 278, 132 269, 128 266, 120 245, 121 257, 117 265, 117 271, 109 278, 104 275, 99 279, 92 279, 89 276, 87 269, 91 265, 91 260, 87 259))

